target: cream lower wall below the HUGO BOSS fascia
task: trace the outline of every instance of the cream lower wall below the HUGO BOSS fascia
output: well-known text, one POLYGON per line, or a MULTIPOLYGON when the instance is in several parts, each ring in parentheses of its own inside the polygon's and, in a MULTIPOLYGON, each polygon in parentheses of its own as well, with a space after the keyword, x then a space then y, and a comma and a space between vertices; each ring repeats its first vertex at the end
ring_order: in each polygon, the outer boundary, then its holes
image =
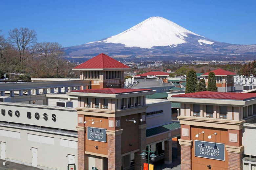
POLYGON ((67 169, 68 154, 75 155, 75 164, 77 165, 77 137, 7 127, 0 127, 1 130, 19 133, 15 138, 3 136, 0 133, 0 141, 6 143, 7 161, 31 166, 31 147, 33 147, 37 148, 37 167, 40 169, 67 169), (63 140, 68 141, 71 145, 63 144, 63 140))

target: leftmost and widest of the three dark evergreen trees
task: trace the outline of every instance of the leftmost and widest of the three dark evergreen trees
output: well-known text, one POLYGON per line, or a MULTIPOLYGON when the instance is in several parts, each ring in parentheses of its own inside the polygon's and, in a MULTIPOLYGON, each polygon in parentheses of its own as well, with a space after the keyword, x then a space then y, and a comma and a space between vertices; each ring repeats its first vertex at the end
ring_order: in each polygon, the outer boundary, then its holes
POLYGON ((196 91, 197 91, 197 74, 195 70, 189 70, 187 72, 185 93, 193 93, 196 91))

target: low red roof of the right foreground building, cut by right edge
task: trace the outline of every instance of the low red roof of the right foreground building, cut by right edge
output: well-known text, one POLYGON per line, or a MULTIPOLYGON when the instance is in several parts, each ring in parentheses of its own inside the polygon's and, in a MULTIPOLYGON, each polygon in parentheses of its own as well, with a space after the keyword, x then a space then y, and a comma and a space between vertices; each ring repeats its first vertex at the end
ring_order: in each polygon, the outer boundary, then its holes
POLYGON ((214 92, 214 91, 201 91, 195 93, 186 93, 174 95, 172 97, 181 98, 204 98, 204 99, 227 99, 227 100, 249 100, 256 99, 255 93, 235 93, 235 92, 214 92))

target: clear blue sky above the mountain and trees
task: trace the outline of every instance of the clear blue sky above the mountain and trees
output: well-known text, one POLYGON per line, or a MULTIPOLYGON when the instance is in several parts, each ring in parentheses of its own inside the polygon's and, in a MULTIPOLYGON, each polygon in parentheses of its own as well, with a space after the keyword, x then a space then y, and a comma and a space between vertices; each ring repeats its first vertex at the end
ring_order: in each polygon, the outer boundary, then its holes
POLYGON ((256 1, 0 0, 0 34, 15 27, 64 47, 116 35, 152 16, 221 42, 256 44, 256 1))

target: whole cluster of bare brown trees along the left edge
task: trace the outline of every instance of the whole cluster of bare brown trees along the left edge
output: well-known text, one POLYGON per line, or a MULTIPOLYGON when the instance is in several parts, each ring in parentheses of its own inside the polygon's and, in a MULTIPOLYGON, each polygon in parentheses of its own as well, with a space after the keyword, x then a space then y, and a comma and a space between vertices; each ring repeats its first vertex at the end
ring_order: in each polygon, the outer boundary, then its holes
POLYGON ((75 67, 64 59, 58 42, 37 42, 37 34, 29 28, 14 28, 8 37, 0 35, 0 78, 22 73, 18 79, 31 77, 73 78, 75 67))

